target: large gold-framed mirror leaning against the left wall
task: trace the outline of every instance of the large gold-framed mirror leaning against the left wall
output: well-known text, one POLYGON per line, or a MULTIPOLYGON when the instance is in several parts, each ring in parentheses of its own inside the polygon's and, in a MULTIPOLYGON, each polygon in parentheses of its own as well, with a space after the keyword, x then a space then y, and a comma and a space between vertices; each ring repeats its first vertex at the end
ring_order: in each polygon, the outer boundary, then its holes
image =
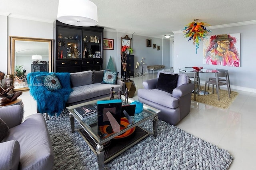
POLYGON ((13 75, 14 91, 28 90, 26 75, 52 71, 51 39, 10 36, 8 74, 13 75))

